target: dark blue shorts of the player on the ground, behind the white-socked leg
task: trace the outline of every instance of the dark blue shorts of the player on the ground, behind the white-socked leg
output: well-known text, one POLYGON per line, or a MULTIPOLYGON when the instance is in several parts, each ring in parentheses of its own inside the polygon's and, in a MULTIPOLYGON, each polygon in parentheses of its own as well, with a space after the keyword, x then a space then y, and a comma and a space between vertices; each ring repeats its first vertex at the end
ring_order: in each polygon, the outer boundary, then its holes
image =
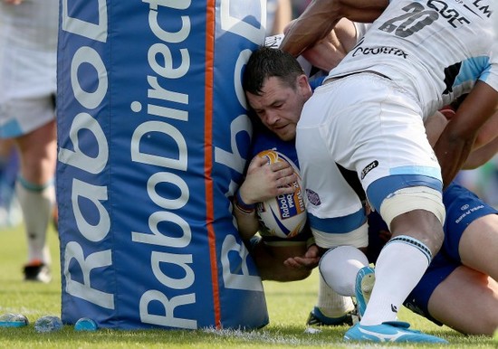
MULTIPOLYGON (((443 193, 446 220, 444 225, 445 241, 441 250, 432 259, 426 273, 418 282, 404 302, 405 307, 426 317, 437 325, 442 325, 427 309, 429 298, 436 287, 445 280, 456 268, 462 265, 458 245, 467 226, 488 214, 498 214, 498 211, 484 203, 474 193, 458 185, 450 184, 443 193)), ((378 253, 387 238, 382 231, 387 231, 386 223, 382 222, 377 212, 369 216, 369 261, 375 263, 378 253)))

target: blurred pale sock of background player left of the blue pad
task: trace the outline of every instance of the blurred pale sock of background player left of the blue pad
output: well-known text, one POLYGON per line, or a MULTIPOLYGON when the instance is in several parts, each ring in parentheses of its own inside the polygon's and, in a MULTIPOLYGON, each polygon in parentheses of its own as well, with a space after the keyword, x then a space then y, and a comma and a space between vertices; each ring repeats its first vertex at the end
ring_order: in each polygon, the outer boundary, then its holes
POLYGON ((15 190, 23 210, 24 227, 28 244, 28 262, 41 260, 51 263, 46 245, 46 233, 55 203, 55 189, 51 181, 46 185, 30 184, 19 178, 15 190))

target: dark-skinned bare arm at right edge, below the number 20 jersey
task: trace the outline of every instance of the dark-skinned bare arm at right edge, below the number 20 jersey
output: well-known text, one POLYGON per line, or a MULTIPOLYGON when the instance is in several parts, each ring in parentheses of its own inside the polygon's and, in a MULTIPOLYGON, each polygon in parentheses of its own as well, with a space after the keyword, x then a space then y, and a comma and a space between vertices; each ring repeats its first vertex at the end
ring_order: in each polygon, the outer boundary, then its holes
POLYGON ((498 91, 478 80, 445 127, 434 147, 445 185, 464 165, 480 128, 493 117, 497 101, 498 91))

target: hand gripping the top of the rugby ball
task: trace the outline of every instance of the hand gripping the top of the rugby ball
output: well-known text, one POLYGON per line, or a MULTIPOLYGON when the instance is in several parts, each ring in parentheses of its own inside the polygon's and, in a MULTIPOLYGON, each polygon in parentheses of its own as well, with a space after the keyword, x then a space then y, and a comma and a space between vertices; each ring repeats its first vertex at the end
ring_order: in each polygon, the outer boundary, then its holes
POLYGON ((297 175, 286 161, 268 165, 263 157, 254 156, 239 191, 244 203, 262 203, 272 197, 293 193, 297 175))

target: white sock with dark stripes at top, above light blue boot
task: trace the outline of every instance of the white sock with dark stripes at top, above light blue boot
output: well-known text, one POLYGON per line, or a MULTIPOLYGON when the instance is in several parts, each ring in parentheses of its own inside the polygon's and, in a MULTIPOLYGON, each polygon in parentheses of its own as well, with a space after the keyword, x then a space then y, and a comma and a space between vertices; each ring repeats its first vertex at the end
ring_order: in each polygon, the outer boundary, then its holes
POLYGON ((380 251, 375 285, 361 325, 396 321, 397 311, 426 272, 430 260, 426 246, 409 236, 397 236, 380 251))

